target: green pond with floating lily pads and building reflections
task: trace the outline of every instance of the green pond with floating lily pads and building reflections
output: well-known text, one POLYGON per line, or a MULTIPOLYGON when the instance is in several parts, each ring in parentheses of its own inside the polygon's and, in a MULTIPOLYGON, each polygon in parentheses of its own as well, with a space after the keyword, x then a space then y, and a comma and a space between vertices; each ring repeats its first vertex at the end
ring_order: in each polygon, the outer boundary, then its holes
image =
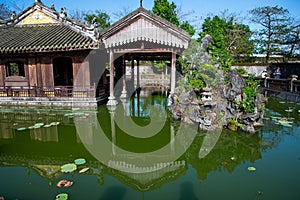
POLYGON ((142 92, 116 109, 1 107, 0 197, 300 199, 300 105, 270 98, 265 126, 248 135, 197 131, 169 119, 167 104, 142 92), (73 185, 57 187, 63 179, 73 185))

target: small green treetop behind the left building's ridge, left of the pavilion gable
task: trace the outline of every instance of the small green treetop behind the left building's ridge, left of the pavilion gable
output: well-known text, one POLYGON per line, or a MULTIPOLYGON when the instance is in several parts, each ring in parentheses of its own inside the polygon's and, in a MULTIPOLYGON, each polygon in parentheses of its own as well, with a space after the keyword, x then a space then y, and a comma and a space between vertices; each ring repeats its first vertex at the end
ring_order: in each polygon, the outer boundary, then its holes
POLYGON ((110 26, 109 15, 100 10, 96 10, 95 13, 92 14, 86 14, 84 20, 90 24, 97 23, 101 30, 110 26))

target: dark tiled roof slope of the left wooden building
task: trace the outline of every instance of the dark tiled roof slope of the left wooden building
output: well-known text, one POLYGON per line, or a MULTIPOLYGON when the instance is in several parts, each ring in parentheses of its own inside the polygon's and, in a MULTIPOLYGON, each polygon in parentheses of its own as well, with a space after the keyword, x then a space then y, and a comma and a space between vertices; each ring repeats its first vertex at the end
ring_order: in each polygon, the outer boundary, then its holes
POLYGON ((0 28, 0 53, 30 53, 93 49, 97 43, 63 24, 0 28))

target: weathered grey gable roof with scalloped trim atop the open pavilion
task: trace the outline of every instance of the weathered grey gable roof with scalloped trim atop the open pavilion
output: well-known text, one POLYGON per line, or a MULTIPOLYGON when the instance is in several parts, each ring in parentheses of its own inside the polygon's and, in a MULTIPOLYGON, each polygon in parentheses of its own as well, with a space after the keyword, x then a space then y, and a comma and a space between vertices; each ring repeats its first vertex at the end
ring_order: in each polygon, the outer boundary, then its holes
POLYGON ((189 34, 170 22, 139 8, 100 33, 106 48, 146 41, 175 48, 187 48, 189 34))

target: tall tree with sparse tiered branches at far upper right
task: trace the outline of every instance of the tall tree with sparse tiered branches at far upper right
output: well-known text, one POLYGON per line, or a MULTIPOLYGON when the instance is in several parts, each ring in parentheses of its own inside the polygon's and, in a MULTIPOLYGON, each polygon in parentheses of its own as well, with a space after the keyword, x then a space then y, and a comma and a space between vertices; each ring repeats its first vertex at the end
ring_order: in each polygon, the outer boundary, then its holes
POLYGON ((282 53, 282 41, 291 22, 289 11, 278 6, 265 6, 251 10, 250 14, 251 20, 262 27, 256 31, 257 51, 266 54, 266 61, 271 54, 282 53))

